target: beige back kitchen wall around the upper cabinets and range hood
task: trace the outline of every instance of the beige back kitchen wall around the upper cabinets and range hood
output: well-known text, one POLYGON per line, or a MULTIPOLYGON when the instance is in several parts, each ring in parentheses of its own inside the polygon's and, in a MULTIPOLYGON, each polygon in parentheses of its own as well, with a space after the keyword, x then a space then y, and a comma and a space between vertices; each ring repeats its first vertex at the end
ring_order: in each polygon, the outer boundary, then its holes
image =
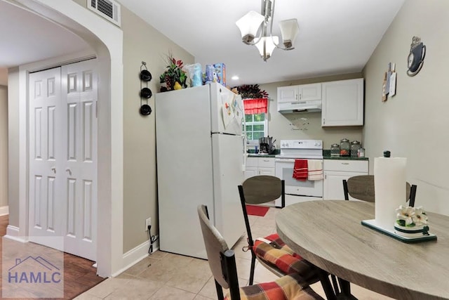
POLYGON ((277 111, 277 88, 279 86, 312 84, 316 82, 354 79, 361 77, 361 73, 354 73, 329 77, 298 79, 295 81, 274 82, 272 84, 260 84, 260 89, 267 91, 269 94, 268 134, 276 139, 276 148, 279 149, 279 141, 281 139, 323 140, 324 149, 330 149, 330 145, 333 143, 340 144, 340 140, 342 138, 348 138, 349 141, 361 141, 363 130, 362 126, 321 127, 321 112, 281 114, 277 111), (302 125, 304 121, 302 121, 301 118, 307 118, 305 123, 309 124, 302 125))

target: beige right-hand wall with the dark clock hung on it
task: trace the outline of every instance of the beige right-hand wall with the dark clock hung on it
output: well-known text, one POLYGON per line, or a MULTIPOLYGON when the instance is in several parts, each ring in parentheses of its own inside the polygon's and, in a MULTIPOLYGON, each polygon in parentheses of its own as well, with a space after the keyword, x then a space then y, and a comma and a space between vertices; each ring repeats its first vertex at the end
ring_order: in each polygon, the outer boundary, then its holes
POLYGON ((408 0, 384 34, 364 70, 366 155, 407 157, 407 180, 417 185, 416 204, 449 214, 449 1, 408 0), (406 74, 413 36, 427 46, 424 66, 406 74), (396 96, 381 101, 388 63, 396 63, 396 96))

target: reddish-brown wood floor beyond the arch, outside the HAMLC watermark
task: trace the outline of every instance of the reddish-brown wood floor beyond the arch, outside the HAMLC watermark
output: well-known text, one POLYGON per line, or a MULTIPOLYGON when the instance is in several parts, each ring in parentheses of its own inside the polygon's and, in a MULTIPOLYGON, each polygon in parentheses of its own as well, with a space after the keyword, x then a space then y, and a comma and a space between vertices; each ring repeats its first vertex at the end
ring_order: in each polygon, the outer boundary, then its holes
MULTIPOLYGON (((0 216, 0 236, 6 235, 6 227, 8 226, 8 216, 0 216)), ((0 240, 1 252, 1 240, 0 240)), ((83 259, 72 254, 64 254, 64 298, 73 299, 79 294, 86 292, 98 283, 105 280, 96 275, 97 269, 94 268, 93 261, 83 259)), ((1 256, 0 256, 1 267, 1 256)), ((1 282, 0 282, 1 283, 1 282)), ((1 299, 4 299, 1 297, 1 299)), ((36 298, 34 298, 36 299, 36 298)))

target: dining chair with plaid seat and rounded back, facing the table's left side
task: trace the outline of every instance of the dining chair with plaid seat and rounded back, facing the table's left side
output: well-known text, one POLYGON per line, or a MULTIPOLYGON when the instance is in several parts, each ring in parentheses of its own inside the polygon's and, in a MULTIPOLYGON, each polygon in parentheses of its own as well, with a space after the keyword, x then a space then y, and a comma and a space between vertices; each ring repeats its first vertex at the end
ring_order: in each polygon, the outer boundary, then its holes
MULTIPOLYGON (((253 284, 255 260, 259 261, 265 268, 272 273, 283 276, 291 273, 298 273, 303 278, 308 278, 307 283, 321 281, 326 296, 335 295, 335 291, 330 285, 328 274, 302 259, 302 257, 293 252, 279 237, 277 233, 266 237, 253 239, 251 233, 250 221, 246 204, 266 204, 281 197, 285 202, 285 183, 278 177, 260 175, 247 178, 239 185, 239 194, 243 217, 245 219, 246 233, 248 235, 248 247, 246 251, 251 252, 250 279, 249 285, 253 284), (315 274, 315 276, 310 276, 315 274)), ((245 251, 245 250, 244 250, 245 251)), ((333 278, 334 285, 337 283, 333 278)))

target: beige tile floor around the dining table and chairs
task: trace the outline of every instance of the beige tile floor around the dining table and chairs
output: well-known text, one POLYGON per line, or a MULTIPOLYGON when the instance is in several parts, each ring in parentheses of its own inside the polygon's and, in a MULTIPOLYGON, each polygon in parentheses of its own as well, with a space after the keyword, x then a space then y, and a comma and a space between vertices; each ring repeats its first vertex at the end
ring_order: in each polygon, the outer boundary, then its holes
MULTIPOLYGON (((250 216, 253 236, 266 236, 276 231, 274 217, 279 209, 270 208, 264 217, 250 216)), ((246 237, 234 246, 240 285, 247 285, 250 270, 250 253, 241 248, 246 237)), ((272 281, 276 275, 256 262, 255 282, 272 281)), ((321 283, 311 285, 324 296, 321 283)), ((360 300, 391 299, 362 287, 351 285, 352 293, 360 300)), ((116 278, 96 285, 76 297, 78 300, 95 299, 217 299, 215 282, 208 262, 202 259, 156 251, 121 273, 116 278)))

